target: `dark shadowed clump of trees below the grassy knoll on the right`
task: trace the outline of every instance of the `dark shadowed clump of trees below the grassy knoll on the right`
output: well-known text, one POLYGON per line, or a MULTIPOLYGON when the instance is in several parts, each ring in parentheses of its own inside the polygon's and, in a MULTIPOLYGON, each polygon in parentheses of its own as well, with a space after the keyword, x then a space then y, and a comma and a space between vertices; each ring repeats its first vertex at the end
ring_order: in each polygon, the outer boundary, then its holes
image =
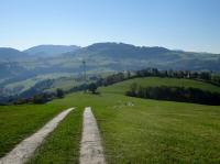
POLYGON ((194 102, 201 105, 220 105, 220 94, 205 91, 198 88, 185 87, 142 87, 132 84, 127 96, 156 99, 156 100, 170 100, 180 102, 194 102))

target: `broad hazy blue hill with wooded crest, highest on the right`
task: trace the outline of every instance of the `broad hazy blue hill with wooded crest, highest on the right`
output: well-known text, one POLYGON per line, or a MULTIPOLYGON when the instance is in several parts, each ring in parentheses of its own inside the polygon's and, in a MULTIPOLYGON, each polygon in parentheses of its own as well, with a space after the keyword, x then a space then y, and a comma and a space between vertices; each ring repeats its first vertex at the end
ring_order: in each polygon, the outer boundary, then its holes
POLYGON ((67 58, 86 58, 91 67, 112 70, 157 67, 162 69, 220 70, 220 55, 172 51, 164 47, 134 46, 123 43, 97 43, 75 53, 67 58))

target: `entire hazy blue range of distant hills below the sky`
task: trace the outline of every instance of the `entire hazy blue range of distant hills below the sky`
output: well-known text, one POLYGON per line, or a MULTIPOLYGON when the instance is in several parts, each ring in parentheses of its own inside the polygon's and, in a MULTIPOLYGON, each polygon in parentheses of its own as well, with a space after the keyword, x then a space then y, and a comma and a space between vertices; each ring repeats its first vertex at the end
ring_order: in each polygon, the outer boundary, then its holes
MULTIPOLYGON (((123 43, 96 43, 80 48, 78 46, 40 45, 24 52, 0 48, 1 88, 16 86, 15 84, 25 88, 26 80, 38 79, 37 77, 55 79, 80 76, 82 59, 86 61, 87 74, 91 76, 146 67, 220 70, 219 54, 172 51, 157 46, 134 46, 123 43)), ((13 88, 8 88, 13 90, 13 88)))

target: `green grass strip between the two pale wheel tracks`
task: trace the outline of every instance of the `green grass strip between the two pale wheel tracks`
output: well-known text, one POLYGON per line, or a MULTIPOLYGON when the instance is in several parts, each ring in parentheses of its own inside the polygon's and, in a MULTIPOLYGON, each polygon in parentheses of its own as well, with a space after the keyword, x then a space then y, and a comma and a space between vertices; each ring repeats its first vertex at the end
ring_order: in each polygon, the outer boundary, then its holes
POLYGON ((28 164, 77 164, 81 139, 82 110, 75 109, 40 146, 28 164))

